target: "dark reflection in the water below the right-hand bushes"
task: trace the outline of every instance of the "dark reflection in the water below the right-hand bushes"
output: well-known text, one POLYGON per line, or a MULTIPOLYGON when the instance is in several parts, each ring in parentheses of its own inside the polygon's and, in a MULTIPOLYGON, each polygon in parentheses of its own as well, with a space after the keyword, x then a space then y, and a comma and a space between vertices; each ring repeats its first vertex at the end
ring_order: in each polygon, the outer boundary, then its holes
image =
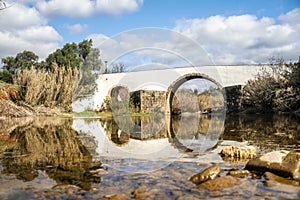
POLYGON ((296 150, 300 145, 299 120, 297 115, 228 116, 223 137, 226 140, 246 140, 262 150, 276 150, 276 146, 290 146, 296 150))

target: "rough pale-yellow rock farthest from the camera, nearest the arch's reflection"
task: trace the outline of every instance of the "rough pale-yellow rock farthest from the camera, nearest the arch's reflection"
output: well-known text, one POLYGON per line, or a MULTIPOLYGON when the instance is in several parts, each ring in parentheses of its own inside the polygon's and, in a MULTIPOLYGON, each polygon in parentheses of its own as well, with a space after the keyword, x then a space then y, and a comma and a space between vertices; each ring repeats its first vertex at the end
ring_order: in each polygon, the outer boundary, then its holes
POLYGON ((250 159, 256 156, 256 149, 253 146, 229 146, 222 149, 221 155, 222 157, 250 159))

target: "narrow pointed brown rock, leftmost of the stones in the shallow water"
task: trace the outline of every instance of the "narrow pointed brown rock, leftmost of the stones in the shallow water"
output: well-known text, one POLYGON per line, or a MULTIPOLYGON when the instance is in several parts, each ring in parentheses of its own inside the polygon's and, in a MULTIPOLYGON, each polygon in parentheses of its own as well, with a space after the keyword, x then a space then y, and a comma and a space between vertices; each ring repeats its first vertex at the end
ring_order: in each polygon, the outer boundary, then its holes
POLYGON ((195 174, 190 178, 190 181, 192 181, 195 184, 200 184, 208 180, 213 180, 217 176, 219 176, 221 172, 221 169, 219 166, 211 166, 203 170, 202 172, 195 174))

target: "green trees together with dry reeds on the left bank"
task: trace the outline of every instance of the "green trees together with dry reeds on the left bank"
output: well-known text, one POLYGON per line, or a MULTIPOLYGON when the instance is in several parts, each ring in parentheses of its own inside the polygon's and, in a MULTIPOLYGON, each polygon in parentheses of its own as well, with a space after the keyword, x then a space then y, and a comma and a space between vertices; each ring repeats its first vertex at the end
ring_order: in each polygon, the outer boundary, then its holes
POLYGON ((17 87, 20 97, 18 102, 5 100, 71 111, 74 99, 92 95, 96 89, 97 73, 93 71, 101 71, 103 65, 100 51, 92 45, 92 40, 67 43, 41 62, 34 52, 27 50, 15 57, 2 58, 0 81, 17 87))

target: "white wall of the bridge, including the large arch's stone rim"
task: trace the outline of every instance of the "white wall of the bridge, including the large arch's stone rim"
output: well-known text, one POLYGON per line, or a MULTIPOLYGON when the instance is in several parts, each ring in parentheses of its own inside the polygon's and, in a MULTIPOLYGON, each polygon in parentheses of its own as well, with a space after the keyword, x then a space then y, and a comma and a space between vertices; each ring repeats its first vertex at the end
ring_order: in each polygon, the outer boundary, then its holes
POLYGON ((113 88, 122 86, 133 91, 165 91, 166 113, 170 112, 168 105, 172 101, 173 94, 184 82, 205 78, 215 83, 220 89, 244 85, 252 79, 261 69, 258 65, 241 66, 202 66, 182 67, 149 71, 132 71, 127 73, 102 74, 97 79, 98 90, 94 96, 77 101, 73 104, 74 111, 99 109, 107 95, 113 88))

